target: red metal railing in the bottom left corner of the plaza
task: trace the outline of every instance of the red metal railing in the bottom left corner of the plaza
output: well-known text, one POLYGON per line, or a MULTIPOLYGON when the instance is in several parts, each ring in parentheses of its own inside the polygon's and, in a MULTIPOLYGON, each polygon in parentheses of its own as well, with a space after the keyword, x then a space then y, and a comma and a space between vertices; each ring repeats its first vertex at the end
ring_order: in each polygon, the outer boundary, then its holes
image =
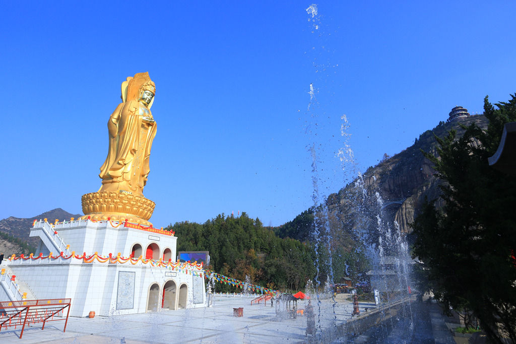
POLYGON ((46 322, 65 320, 65 328, 63 329, 63 332, 65 332, 68 315, 70 314, 70 302, 71 299, 0 302, 0 331, 7 330, 10 327, 16 329, 18 326, 22 326, 20 333, 20 338, 22 338, 25 325, 43 323, 41 330, 44 330, 46 322), (54 316, 62 317, 66 308, 68 308, 66 318, 54 319, 54 316))

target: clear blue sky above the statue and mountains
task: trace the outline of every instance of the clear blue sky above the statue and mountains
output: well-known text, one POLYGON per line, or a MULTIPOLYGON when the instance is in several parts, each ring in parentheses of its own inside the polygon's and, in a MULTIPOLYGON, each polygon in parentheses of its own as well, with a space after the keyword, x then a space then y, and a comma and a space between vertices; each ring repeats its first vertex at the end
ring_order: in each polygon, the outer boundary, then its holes
POLYGON ((452 107, 516 92, 515 2, 325 1, 313 18, 311 4, 3 3, 0 218, 81 212, 138 72, 157 89, 157 227, 238 210, 280 225, 313 204, 310 146, 322 198, 452 107))

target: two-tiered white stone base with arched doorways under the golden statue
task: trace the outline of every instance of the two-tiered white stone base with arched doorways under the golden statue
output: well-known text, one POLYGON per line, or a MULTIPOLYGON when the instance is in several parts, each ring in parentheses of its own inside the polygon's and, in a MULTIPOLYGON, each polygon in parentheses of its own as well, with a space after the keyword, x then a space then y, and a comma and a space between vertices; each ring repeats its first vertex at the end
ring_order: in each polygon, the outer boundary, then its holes
MULTIPOLYGON (((40 252, 45 256, 52 250, 46 245, 50 245, 49 240, 54 240, 54 233, 49 236, 48 228, 46 234, 42 232, 44 229, 38 223, 31 229, 31 236, 42 238, 36 257, 40 252)), ((109 253, 116 257, 120 252, 128 257, 135 243, 141 244, 143 252, 150 243, 158 244, 160 255, 165 248, 171 249, 173 255, 176 252, 176 237, 124 228, 123 225, 114 227, 109 222, 81 220, 52 229, 59 235, 57 243, 52 244, 56 248, 70 244, 69 251, 75 251, 75 247, 79 249, 75 252, 79 256, 83 252, 88 255, 98 252, 106 257, 109 253)), ((58 255, 59 252, 53 254, 58 255)), ((65 256, 69 255, 65 253, 65 256)), ((6 263, 38 299, 72 299, 70 316, 73 317, 86 317, 92 310, 96 315, 110 316, 155 311, 162 309, 162 304, 168 309, 204 307, 206 302, 204 270, 191 266, 172 270, 142 261, 134 265, 131 261, 112 264, 96 259, 85 263, 75 257, 15 259, 6 263)))

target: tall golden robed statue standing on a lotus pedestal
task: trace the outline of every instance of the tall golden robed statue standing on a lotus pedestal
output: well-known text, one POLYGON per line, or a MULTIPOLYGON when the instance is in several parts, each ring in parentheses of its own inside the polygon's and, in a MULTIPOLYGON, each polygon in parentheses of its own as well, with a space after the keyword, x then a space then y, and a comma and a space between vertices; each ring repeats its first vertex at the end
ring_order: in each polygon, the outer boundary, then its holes
POLYGON ((82 219, 127 219, 152 225, 147 220, 155 204, 144 198, 143 187, 156 135, 156 122, 150 110, 155 92, 156 86, 147 72, 137 73, 122 83, 122 103, 107 123, 109 150, 100 168, 102 186, 98 192, 83 195, 82 219))

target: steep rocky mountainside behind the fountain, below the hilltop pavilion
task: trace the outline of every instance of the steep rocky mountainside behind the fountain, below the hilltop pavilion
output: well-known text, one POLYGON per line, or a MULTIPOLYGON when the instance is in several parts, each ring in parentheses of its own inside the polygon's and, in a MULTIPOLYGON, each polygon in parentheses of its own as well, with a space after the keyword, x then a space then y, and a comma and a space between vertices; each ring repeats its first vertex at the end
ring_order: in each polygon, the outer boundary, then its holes
MULTIPOLYGON (((420 212, 425 197, 432 200, 440 194, 438 185, 441 181, 433 176, 432 163, 423 156, 420 149, 435 153, 437 141, 433 135, 444 137, 450 129, 456 129, 457 136, 462 136, 464 130, 459 123, 469 126, 475 122, 480 127, 487 127, 488 124, 483 115, 459 121, 439 123, 416 138, 414 144, 406 150, 392 157, 384 156, 377 166, 369 167, 362 176, 337 193, 330 194, 326 203, 334 240, 346 245, 352 243, 357 231, 363 235, 375 232, 378 226, 377 214, 391 225, 396 221, 402 233, 412 232, 408 224, 420 212), (379 198, 382 204, 378 202, 379 198)), ((313 208, 303 211, 293 221, 276 227, 275 233, 280 237, 308 239, 310 233, 313 233, 313 213, 313 208)), ((374 241, 374 238, 371 240, 374 241)))

